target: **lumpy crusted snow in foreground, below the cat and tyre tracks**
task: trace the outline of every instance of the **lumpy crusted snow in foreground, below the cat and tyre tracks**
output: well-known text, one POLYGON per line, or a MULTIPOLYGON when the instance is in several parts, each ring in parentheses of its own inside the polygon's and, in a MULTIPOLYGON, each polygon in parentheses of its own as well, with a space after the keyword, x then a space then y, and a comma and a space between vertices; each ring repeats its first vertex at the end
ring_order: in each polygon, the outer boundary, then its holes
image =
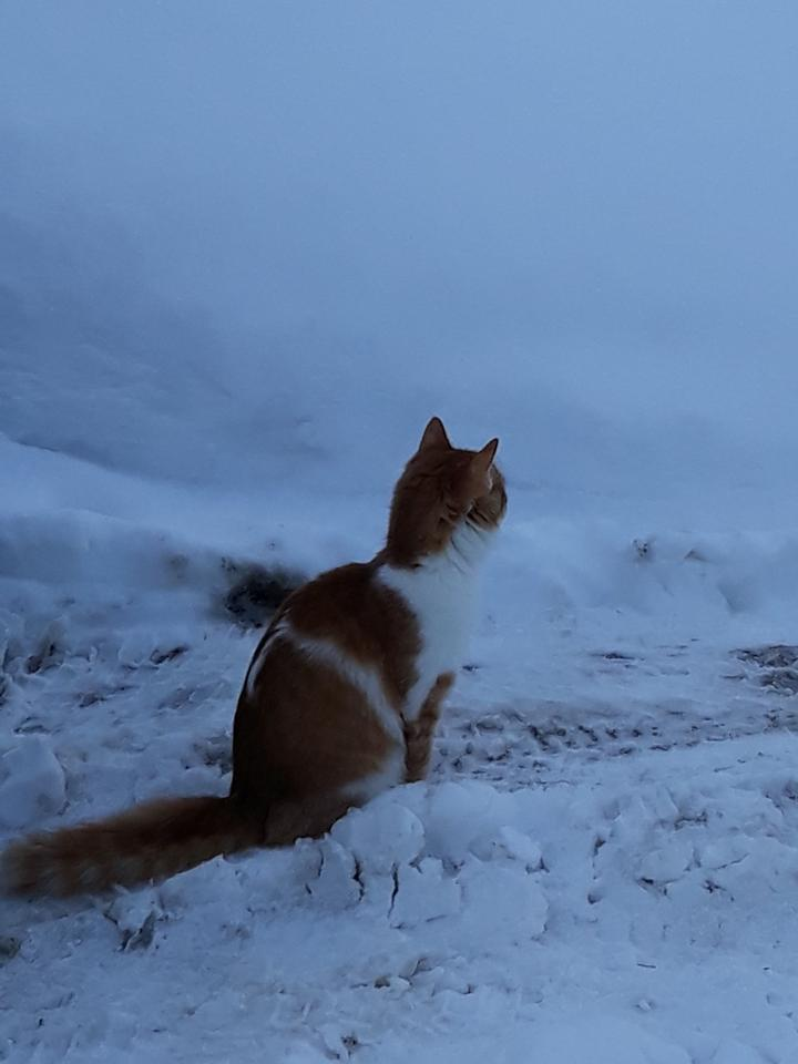
POLYGON ((9 906, 11 1058, 788 1064, 798 744, 672 757, 397 788, 320 841, 9 906))

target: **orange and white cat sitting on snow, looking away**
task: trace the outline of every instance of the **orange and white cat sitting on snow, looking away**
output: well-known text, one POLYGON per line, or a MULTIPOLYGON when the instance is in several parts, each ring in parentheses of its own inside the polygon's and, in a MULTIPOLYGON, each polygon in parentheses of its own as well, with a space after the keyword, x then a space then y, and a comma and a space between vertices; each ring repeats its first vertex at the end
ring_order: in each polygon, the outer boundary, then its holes
POLYGON ((497 447, 453 448, 432 418, 393 491, 385 548, 285 601, 238 698, 227 797, 165 798, 21 839, 2 855, 6 889, 64 896, 163 879, 324 835, 351 806, 421 779, 507 508, 497 447))

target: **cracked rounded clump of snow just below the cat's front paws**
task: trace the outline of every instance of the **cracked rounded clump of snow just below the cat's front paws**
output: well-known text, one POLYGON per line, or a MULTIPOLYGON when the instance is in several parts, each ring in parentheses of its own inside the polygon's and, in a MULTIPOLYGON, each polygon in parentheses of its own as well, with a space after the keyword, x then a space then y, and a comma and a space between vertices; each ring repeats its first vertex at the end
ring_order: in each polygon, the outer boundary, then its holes
POLYGON ((541 855, 518 819, 513 797, 484 784, 385 795, 334 827, 308 890, 332 908, 361 904, 392 928, 446 920, 440 933, 460 949, 474 934, 494 945, 536 938, 548 911, 541 855))

